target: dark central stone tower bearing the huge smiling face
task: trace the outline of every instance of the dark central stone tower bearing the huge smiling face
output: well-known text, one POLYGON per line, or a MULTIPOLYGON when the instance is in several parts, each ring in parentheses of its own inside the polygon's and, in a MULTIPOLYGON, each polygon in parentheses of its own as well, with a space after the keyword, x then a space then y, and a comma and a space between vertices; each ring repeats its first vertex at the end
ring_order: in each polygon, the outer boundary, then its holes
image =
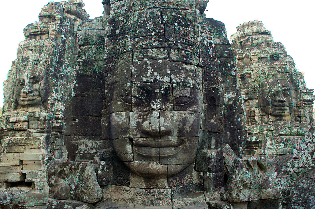
POLYGON ((243 157, 248 136, 224 24, 201 14, 206 1, 102 3, 105 15, 77 31, 65 131, 70 160, 97 164, 97 207, 231 206, 223 143, 243 157))

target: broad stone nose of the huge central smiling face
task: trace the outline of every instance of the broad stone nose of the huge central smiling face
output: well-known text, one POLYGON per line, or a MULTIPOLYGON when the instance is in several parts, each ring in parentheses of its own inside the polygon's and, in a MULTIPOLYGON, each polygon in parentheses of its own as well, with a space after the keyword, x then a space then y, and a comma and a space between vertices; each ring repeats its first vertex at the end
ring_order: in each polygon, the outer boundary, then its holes
POLYGON ((160 117, 160 110, 152 110, 141 125, 141 131, 153 137, 168 135, 171 130, 170 123, 160 117))

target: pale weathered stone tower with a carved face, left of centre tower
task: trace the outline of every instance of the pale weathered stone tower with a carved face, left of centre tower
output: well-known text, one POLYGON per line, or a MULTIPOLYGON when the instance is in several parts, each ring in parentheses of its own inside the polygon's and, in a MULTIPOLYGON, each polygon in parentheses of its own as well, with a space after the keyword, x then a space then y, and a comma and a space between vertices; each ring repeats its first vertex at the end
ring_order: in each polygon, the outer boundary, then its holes
POLYGON ((77 56, 75 30, 89 19, 80 5, 80 1, 50 2, 40 12, 39 21, 24 29, 25 41, 19 44, 17 59, 4 82, 2 186, 26 184, 32 192, 48 192, 48 162, 67 159, 63 132, 77 56))

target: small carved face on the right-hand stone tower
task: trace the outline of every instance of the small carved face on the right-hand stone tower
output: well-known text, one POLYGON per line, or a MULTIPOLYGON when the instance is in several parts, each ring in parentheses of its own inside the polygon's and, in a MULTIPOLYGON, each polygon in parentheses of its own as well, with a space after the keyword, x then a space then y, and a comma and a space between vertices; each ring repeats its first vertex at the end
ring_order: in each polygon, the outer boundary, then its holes
POLYGON ((280 117, 277 120, 290 116, 293 111, 293 97, 289 82, 286 80, 262 82, 259 105, 267 115, 280 117))

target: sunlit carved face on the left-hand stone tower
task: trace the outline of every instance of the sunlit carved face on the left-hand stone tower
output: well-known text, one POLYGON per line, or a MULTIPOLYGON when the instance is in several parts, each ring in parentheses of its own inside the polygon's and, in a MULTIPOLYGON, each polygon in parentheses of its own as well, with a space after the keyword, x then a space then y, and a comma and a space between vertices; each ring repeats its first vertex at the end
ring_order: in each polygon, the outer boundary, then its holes
POLYGON ((43 105, 40 95, 41 76, 32 70, 20 69, 17 73, 15 96, 18 107, 43 105))

